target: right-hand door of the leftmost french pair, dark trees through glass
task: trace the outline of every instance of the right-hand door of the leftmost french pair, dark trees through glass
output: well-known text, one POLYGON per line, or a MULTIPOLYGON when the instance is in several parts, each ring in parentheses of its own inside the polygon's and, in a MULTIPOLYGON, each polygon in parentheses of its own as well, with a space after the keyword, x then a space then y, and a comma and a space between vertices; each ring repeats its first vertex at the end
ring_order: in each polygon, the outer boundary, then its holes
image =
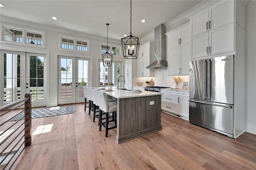
POLYGON ((26 93, 32 107, 46 106, 46 55, 26 53, 26 93))

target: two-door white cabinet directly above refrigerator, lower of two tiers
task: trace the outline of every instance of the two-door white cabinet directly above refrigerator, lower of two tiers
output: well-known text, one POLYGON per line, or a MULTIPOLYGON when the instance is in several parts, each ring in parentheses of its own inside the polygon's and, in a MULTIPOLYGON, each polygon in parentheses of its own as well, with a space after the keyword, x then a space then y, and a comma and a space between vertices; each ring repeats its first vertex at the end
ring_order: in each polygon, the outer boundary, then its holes
POLYGON ((234 23, 191 38, 191 58, 234 51, 234 23))

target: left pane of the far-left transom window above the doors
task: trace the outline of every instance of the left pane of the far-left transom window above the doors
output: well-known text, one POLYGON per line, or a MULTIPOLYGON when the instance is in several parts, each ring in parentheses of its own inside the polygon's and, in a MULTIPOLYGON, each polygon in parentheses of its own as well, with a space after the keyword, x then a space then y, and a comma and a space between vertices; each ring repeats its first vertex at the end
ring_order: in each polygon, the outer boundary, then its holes
POLYGON ((22 31, 5 28, 4 40, 22 43, 22 31))

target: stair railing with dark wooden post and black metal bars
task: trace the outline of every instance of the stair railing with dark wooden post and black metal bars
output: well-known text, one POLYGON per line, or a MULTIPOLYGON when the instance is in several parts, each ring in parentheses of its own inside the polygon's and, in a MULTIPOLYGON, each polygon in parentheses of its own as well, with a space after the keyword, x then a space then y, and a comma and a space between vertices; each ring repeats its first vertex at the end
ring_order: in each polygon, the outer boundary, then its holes
POLYGON ((14 168, 31 145, 31 95, 0 107, 0 169, 14 168), (19 109, 23 107, 24 109, 19 109))

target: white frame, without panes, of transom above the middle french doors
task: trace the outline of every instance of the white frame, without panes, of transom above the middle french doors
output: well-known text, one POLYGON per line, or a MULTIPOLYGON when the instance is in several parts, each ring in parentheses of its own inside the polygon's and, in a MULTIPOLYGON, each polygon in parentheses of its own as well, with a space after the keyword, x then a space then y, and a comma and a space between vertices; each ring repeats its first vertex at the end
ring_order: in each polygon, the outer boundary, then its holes
POLYGON ((78 52, 78 53, 90 53, 90 40, 88 40, 88 39, 81 39, 81 38, 77 38, 77 37, 73 37, 73 36, 67 36, 67 35, 61 35, 61 34, 59 34, 58 50, 60 50, 60 51, 72 51, 72 52, 78 52), (62 48, 62 38, 67 38, 67 39, 72 39, 72 40, 74 40, 74 49, 62 48), (87 49, 88 49, 88 51, 77 50, 77 49, 76 49, 76 41, 87 42, 87 49))

